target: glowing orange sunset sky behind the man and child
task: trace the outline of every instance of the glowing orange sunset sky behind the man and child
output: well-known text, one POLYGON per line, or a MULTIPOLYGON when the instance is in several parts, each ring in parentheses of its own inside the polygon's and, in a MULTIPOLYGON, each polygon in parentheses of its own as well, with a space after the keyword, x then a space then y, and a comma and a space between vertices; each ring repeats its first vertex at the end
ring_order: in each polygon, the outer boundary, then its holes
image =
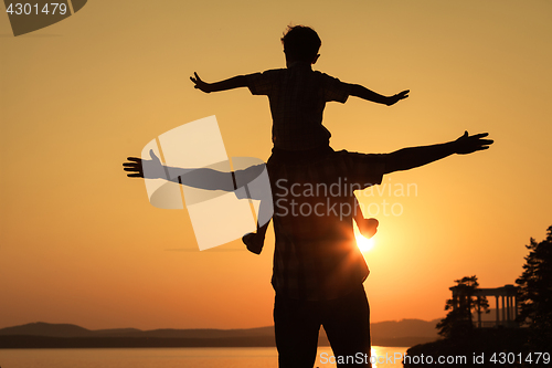
POLYGON ((266 160, 267 98, 203 94, 189 76, 284 67, 290 23, 320 34, 316 70, 385 95, 411 90, 392 107, 328 104, 333 148, 389 153, 465 129, 496 141, 360 196, 402 209, 375 215, 364 253, 372 322, 443 317, 463 276, 514 283, 523 245, 552 224, 551 20, 546 0, 95 0, 14 38, 0 14, 0 328, 272 325, 272 227, 258 256, 241 241, 200 252, 187 211, 153 208, 121 164, 210 115, 229 156, 266 160), (390 196, 408 183, 417 190, 390 196))

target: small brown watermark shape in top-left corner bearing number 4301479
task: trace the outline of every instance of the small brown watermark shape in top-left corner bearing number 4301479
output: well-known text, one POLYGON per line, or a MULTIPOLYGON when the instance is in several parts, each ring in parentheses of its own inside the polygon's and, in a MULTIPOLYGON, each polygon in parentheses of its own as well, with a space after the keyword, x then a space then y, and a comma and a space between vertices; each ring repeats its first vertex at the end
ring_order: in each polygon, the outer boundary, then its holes
MULTIPOLYGON (((55 0, 54 0, 55 1, 55 0)), ((87 0, 65 0, 65 1, 3 1, 6 13, 10 19, 13 35, 30 33, 45 27, 57 23, 81 9, 87 0)))

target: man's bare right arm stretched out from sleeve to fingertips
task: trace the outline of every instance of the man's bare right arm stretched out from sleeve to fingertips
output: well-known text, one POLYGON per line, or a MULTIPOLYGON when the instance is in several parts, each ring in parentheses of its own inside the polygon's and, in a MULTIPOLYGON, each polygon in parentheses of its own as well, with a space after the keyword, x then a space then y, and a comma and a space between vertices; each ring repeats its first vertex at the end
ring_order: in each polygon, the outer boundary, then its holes
POLYGON ((445 144, 400 149, 388 155, 385 174, 410 170, 454 154, 468 155, 487 149, 493 143, 491 139, 484 139, 488 135, 482 133, 470 136, 466 132, 458 139, 445 144))

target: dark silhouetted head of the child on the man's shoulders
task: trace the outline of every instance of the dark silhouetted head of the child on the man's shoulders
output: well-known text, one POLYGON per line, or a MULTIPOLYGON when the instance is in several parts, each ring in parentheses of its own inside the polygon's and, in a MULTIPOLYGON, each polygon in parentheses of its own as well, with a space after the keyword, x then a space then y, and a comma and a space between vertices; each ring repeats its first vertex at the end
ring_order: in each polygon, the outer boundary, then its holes
POLYGON ((282 38, 282 43, 287 59, 310 63, 318 54, 322 41, 310 27, 288 25, 282 38))

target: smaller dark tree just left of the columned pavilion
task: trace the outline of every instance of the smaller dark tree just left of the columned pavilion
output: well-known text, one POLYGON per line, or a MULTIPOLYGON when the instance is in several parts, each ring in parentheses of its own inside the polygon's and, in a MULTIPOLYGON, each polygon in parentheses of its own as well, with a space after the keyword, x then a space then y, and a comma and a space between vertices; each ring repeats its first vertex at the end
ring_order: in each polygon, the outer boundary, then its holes
POLYGON ((479 286, 477 276, 465 276, 455 280, 456 285, 450 287, 453 298, 445 304, 447 316, 437 324, 439 335, 445 338, 464 338, 470 335, 474 329, 471 312, 481 311, 488 313, 489 302, 486 296, 477 296, 476 290, 479 286))

